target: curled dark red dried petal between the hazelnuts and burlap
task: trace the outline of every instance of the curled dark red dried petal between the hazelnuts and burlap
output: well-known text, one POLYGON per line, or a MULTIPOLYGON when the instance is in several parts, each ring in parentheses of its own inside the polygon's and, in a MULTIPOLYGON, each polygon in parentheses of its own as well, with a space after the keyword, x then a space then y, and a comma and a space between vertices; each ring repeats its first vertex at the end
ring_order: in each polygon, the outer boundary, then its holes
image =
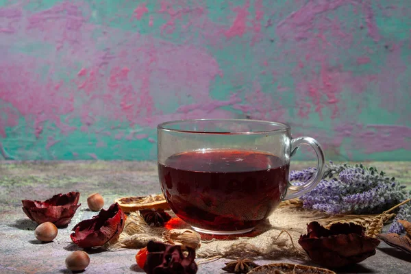
POLYGON ((101 210, 92 219, 81 221, 73 227, 71 240, 79 247, 100 247, 109 240, 119 237, 123 232, 125 215, 118 203, 108 210, 101 210))

